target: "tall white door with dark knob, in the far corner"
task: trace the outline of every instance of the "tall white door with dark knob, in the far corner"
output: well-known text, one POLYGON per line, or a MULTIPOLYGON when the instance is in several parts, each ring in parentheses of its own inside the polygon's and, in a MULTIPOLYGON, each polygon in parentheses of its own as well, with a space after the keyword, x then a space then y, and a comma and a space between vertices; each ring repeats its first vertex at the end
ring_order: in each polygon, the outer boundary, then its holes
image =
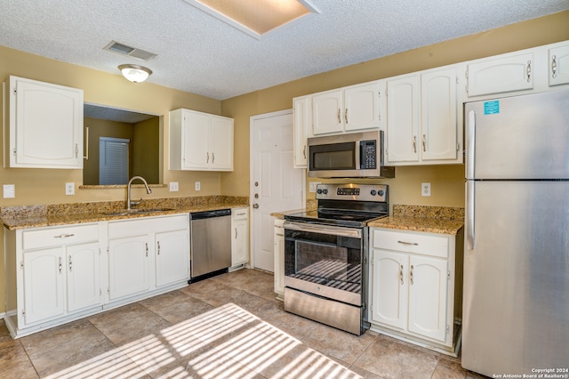
POLYGON ((274 270, 274 222, 270 214, 304 207, 306 172, 294 168, 293 163, 293 110, 251 117, 254 268, 274 270))

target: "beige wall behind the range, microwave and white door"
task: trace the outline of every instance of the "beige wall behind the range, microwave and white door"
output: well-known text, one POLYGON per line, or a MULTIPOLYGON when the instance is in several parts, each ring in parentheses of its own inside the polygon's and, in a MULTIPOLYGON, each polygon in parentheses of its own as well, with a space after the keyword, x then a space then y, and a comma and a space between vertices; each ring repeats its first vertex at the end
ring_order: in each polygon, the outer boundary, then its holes
MULTIPOLYGON (((222 101, 221 113, 236 119, 239 146, 246 147, 248 154, 249 117, 290 109, 293 97, 565 40, 569 40, 569 12, 560 12, 248 93, 222 101)), ((249 160, 239 160, 233 173, 221 175, 224 194, 249 194, 249 160)), ((395 179, 373 182, 389 184, 391 204, 464 206, 463 165, 397 167, 395 179), (432 183, 430 198, 421 197, 423 181, 432 183)))

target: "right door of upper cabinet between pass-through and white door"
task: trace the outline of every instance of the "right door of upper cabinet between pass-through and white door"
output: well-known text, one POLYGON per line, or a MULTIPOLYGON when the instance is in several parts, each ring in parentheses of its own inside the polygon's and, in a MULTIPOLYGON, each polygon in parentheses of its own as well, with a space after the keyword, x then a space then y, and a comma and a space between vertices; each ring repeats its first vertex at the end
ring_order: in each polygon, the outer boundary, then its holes
POLYGON ((210 168, 217 171, 233 170, 233 119, 211 116, 210 168))

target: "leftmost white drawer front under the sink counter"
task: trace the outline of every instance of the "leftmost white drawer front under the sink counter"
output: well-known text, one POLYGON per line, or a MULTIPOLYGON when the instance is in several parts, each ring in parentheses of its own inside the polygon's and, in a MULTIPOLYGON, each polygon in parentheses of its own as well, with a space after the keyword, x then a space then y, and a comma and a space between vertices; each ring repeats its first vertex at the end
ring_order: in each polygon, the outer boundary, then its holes
POLYGON ((50 246, 74 245, 98 240, 98 224, 22 231, 22 248, 24 250, 50 246))

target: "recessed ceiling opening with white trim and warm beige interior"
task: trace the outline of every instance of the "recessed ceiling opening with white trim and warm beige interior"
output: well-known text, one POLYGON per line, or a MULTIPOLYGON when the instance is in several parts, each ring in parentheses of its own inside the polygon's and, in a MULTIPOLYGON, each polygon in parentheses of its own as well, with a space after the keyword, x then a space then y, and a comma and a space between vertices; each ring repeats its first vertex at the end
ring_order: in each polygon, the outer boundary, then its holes
POLYGON ((318 13, 314 6, 304 0, 185 1, 256 38, 318 13))

